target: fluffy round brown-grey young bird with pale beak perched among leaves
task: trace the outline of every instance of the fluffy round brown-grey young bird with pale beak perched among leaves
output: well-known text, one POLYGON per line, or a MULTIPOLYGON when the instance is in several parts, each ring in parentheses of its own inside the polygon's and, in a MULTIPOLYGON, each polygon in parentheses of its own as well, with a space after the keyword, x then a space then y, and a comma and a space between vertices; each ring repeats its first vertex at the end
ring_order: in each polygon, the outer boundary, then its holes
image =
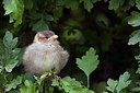
POLYGON ((34 36, 34 40, 25 48, 23 67, 25 72, 43 74, 54 70, 59 73, 69 60, 69 53, 57 40, 58 35, 52 31, 42 31, 34 36))

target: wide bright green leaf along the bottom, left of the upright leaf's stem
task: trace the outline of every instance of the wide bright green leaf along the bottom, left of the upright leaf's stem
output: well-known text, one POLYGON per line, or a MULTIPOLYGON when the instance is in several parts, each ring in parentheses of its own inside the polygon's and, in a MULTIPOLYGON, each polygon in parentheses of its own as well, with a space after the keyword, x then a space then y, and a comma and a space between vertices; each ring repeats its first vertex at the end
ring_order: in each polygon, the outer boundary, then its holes
POLYGON ((75 81, 75 79, 71 79, 70 77, 66 77, 59 80, 54 79, 52 85, 58 86, 66 93, 94 93, 93 91, 81 85, 81 83, 75 81))

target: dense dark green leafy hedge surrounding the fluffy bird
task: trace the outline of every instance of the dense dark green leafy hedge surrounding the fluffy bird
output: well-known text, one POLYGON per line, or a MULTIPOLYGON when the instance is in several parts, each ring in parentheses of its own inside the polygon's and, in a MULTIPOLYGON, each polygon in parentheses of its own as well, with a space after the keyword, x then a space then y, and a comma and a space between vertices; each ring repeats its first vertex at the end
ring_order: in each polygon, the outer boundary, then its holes
POLYGON ((0 93, 140 92, 140 0, 0 4, 0 93), (69 62, 59 75, 23 73, 24 49, 44 30, 59 35, 69 62))

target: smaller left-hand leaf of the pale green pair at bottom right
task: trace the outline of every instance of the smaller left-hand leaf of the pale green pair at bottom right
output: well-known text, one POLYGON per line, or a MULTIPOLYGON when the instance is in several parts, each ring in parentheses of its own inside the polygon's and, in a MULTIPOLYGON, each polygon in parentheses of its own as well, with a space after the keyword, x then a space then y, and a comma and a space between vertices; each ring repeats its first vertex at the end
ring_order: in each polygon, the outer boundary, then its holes
POLYGON ((106 89, 114 93, 115 89, 116 89, 116 86, 118 84, 118 81, 117 80, 115 81, 115 80, 108 79, 107 84, 108 84, 108 86, 106 86, 106 89))

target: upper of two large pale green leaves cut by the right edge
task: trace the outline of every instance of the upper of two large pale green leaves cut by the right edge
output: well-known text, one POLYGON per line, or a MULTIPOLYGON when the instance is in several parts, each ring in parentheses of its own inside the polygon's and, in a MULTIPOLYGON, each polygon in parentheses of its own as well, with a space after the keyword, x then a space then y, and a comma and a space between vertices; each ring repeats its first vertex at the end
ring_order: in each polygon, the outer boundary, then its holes
POLYGON ((140 26, 140 12, 133 11, 131 15, 127 18, 128 24, 131 26, 140 26))

